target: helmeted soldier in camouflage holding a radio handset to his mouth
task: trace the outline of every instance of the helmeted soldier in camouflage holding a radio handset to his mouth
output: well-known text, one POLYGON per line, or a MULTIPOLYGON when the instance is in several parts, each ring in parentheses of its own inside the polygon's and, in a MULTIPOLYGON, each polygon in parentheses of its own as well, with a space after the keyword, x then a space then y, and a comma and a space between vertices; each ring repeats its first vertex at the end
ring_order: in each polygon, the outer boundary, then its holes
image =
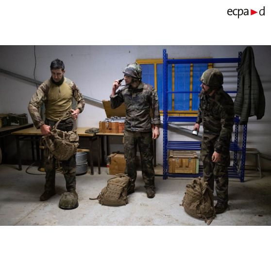
POLYGON ((158 138, 161 123, 158 96, 151 85, 141 82, 142 69, 137 63, 129 64, 123 73, 126 86, 116 93, 121 82, 116 80, 113 83, 110 103, 111 108, 114 109, 124 102, 126 108, 124 126, 125 174, 132 179, 128 194, 135 191, 135 156, 136 146, 138 145, 142 177, 145 182, 144 187, 146 188, 147 197, 153 198, 155 196, 155 186, 152 138, 158 138), (152 109, 153 118, 151 118, 150 109, 152 109))

